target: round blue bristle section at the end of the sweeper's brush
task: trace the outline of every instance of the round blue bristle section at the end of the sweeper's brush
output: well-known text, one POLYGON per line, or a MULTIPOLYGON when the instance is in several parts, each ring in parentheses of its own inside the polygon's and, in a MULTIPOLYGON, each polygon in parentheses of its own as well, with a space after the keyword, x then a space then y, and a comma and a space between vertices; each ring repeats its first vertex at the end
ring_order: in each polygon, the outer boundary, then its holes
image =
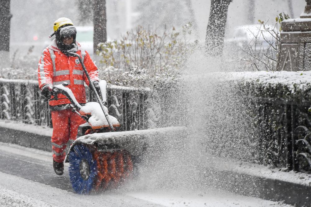
POLYGON ((84 145, 74 146, 69 153, 69 164, 69 176, 73 190, 78 194, 89 193, 97 175, 97 164, 91 152, 84 145), (80 174, 80 162, 83 159, 86 159, 90 166, 90 176, 87 180, 84 180, 80 174))

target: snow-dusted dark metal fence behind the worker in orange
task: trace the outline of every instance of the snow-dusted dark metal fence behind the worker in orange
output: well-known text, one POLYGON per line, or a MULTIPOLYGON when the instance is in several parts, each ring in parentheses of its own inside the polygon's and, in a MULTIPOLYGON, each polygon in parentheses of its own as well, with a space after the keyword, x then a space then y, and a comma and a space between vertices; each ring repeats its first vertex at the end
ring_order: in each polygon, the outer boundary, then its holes
MULTIPOLYGON (((27 124, 52 127, 47 101, 40 97, 38 82, 33 80, 0 79, 0 117, 27 124)), ((87 102, 94 94, 86 87, 87 102)), ((107 86, 109 114, 116 117, 122 131, 146 129, 148 88, 107 86)))

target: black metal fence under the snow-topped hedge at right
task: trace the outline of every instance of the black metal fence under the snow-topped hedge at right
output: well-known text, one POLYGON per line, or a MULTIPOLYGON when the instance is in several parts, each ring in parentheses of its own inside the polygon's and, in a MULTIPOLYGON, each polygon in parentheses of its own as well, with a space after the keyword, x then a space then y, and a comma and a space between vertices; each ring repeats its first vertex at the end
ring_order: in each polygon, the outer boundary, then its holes
POLYGON ((260 163, 311 173, 311 102, 261 97, 256 105, 260 163))

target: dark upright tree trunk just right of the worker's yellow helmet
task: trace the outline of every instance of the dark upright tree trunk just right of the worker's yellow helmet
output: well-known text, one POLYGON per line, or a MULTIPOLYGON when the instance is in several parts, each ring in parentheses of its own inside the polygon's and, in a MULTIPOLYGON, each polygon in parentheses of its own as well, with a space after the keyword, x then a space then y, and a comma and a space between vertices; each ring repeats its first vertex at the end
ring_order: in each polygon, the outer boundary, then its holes
POLYGON ((107 42, 107 16, 106 16, 106 0, 93 1, 93 25, 94 36, 93 46, 94 54, 96 54, 97 45, 107 42))

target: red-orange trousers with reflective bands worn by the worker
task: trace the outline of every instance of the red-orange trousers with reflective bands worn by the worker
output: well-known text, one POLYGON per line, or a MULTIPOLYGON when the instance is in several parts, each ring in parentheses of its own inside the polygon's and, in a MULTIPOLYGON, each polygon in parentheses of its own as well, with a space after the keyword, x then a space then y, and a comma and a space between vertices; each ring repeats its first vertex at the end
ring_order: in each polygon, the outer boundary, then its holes
POLYGON ((53 160, 63 162, 65 160, 65 149, 69 139, 76 140, 78 126, 86 121, 71 109, 51 111, 53 135, 52 151, 53 160))

